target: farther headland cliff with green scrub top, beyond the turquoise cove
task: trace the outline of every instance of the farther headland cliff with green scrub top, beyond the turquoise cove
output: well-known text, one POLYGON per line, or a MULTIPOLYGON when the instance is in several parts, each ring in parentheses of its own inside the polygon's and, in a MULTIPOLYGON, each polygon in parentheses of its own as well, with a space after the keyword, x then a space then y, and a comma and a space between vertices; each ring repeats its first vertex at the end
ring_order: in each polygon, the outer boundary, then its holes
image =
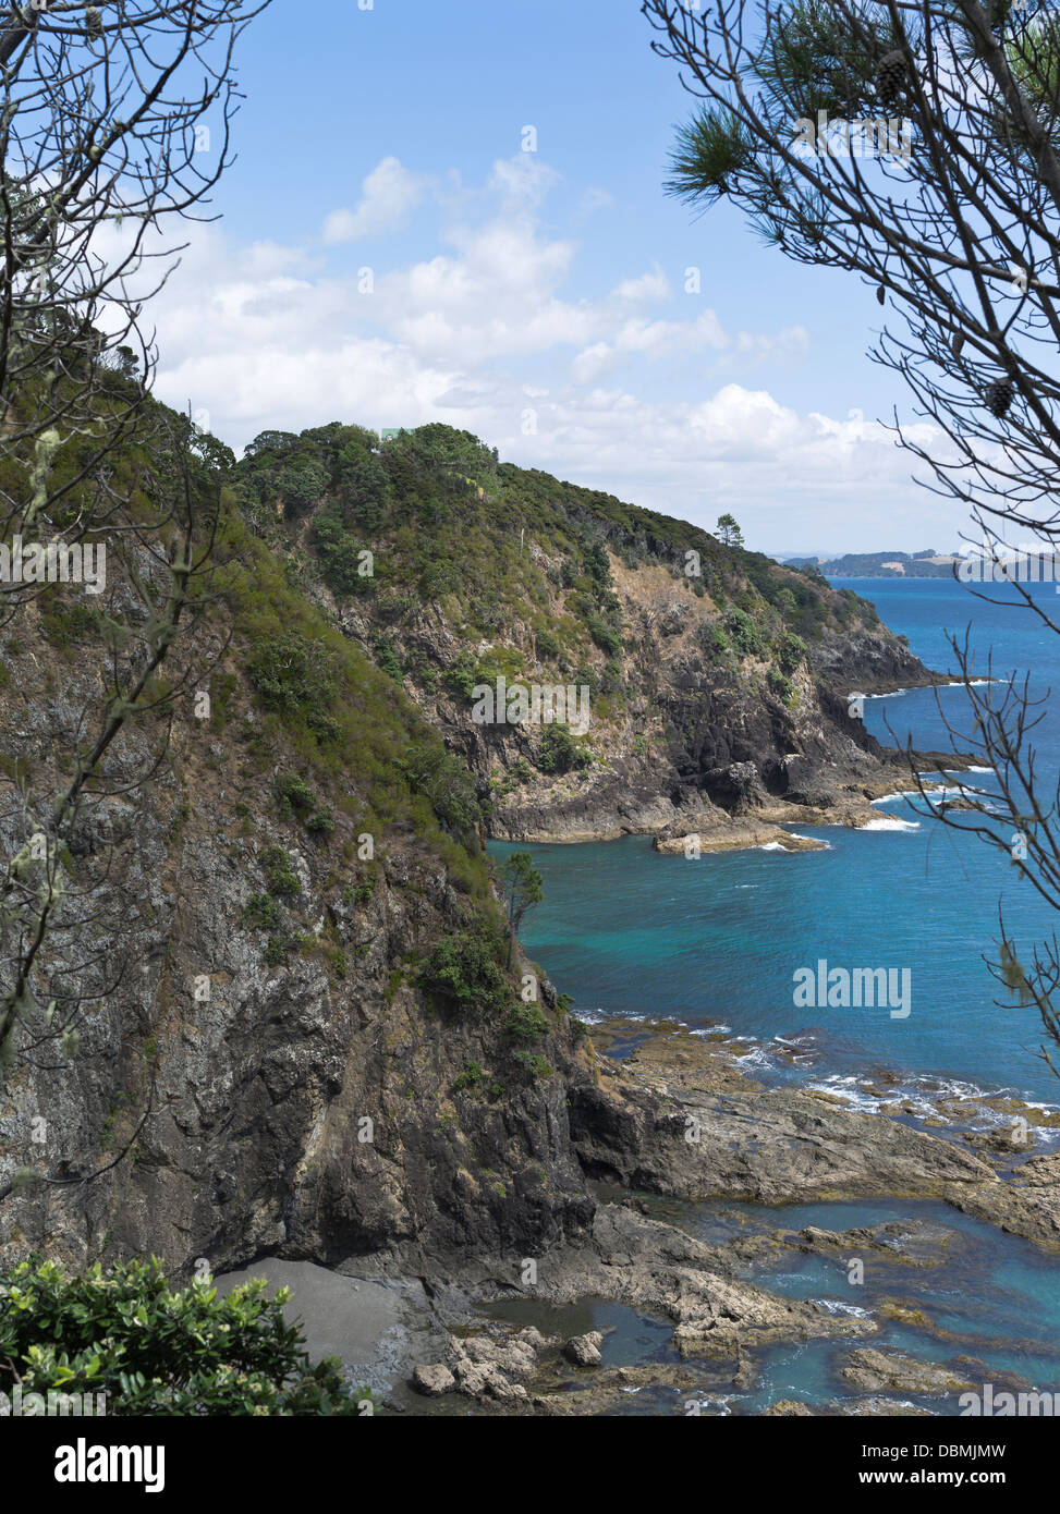
POLYGON ((267 433, 236 474, 304 592, 474 772, 494 837, 718 825, 893 786, 846 695, 933 675, 812 571, 498 465, 450 427, 267 433), (513 687, 578 690, 572 737, 506 706, 513 687))

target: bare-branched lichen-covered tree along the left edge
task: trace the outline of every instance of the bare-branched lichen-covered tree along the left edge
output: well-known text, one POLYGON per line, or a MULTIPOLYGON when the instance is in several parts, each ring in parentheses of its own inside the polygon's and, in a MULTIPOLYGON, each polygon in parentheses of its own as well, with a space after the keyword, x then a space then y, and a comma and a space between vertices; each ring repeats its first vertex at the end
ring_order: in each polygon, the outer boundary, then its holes
MULTIPOLYGON (((38 568, 0 580, 0 625, 33 607, 32 636, 80 659, 61 699, 44 690, 42 719, 6 737, 3 1084, 61 1070, 86 1008, 115 1002, 139 963, 114 887, 124 812, 227 645, 210 615, 217 469, 230 453, 151 398, 141 322, 179 251, 167 227, 192 217, 229 162, 233 48, 262 8, 35 0, 0 20, 0 542, 21 539, 67 569, 95 562, 91 578, 38 568)), ((6 1151, 0 1201, 94 1181, 148 1114, 150 1102, 101 1166, 36 1146, 12 1176, 6 1151)))

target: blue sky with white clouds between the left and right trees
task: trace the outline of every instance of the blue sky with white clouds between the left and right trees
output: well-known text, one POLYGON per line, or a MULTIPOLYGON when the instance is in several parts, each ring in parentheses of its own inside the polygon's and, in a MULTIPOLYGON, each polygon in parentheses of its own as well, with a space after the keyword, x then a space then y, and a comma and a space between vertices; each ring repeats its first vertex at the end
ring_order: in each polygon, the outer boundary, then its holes
POLYGON ((445 421, 707 528, 731 512, 768 553, 957 547, 880 424, 912 412, 865 356, 874 291, 665 194, 694 100, 651 35, 638 0, 273 0, 220 220, 151 301, 159 397, 236 450, 445 421))

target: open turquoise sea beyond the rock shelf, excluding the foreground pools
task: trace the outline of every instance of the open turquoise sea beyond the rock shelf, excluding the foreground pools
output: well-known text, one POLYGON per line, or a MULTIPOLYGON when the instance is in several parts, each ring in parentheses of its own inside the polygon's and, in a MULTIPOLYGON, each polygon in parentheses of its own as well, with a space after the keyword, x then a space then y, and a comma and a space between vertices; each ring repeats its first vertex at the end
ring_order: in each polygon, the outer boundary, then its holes
MULTIPOLYGON (((977 604, 946 580, 851 583, 928 666, 952 666, 943 627, 962 631, 971 618, 983 669, 993 645, 995 674, 999 666, 1030 671, 1039 692, 1060 678, 1060 639, 1028 612, 977 604)), ((1051 584, 1036 592, 1046 590, 1052 597, 1051 584)), ((965 690, 942 689, 939 698, 959 722, 965 690)), ((912 731, 922 749, 945 749, 933 690, 869 699, 865 718, 884 742, 889 721, 898 739, 912 731)), ((1036 740, 1043 774, 1060 771, 1055 706, 1036 740)), ((989 787, 989 774, 972 781, 989 787)), ((775 1066, 765 1058, 766 1075, 836 1086, 886 1067, 928 1090, 931 1079, 945 1079, 959 1092, 1057 1102, 1060 1084, 1037 1055, 1036 1010, 998 1005, 1004 995, 984 961, 996 960, 999 904, 1018 948, 1049 934, 1055 917, 983 842, 933 824, 907 799, 877 808, 881 822, 901 828, 790 827, 827 842, 824 852, 759 849, 691 861, 662 857, 639 836, 524 846, 544 875, 545 901, 522 939, 588 1019, 675 1016, 766 1042, 784 1037, 787 1052, 775 1066), (909 1016, 893 1017, 886 1007, 797 1007, 793 974, 819 960, 909 969, 909 1016)))

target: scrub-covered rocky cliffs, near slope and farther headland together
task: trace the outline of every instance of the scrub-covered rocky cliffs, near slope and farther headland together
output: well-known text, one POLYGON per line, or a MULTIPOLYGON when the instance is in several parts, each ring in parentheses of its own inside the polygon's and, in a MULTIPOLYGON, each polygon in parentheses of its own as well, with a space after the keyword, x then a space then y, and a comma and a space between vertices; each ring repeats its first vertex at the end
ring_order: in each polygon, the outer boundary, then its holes
MULTIPOLYGON (((597 1072, 545 972, 506 966, 485 836, 840 805, 893 781, 845 695, 928 675, 854 595, 465 433, 200 451, 209 701, 177 680, 136 712, 58 837, 65 913, 0 1104, 0 1264, 506 1275, 592 1226, 569 1098, 597 1072), (498 678, 585 687, 588 719, 475 719, 498 678)), ((120 481, 150 495, 154 466, 120 481)), ((8 857, 123 656, 127 587, 86 607, 51 584, 0 648, 8 857)))

